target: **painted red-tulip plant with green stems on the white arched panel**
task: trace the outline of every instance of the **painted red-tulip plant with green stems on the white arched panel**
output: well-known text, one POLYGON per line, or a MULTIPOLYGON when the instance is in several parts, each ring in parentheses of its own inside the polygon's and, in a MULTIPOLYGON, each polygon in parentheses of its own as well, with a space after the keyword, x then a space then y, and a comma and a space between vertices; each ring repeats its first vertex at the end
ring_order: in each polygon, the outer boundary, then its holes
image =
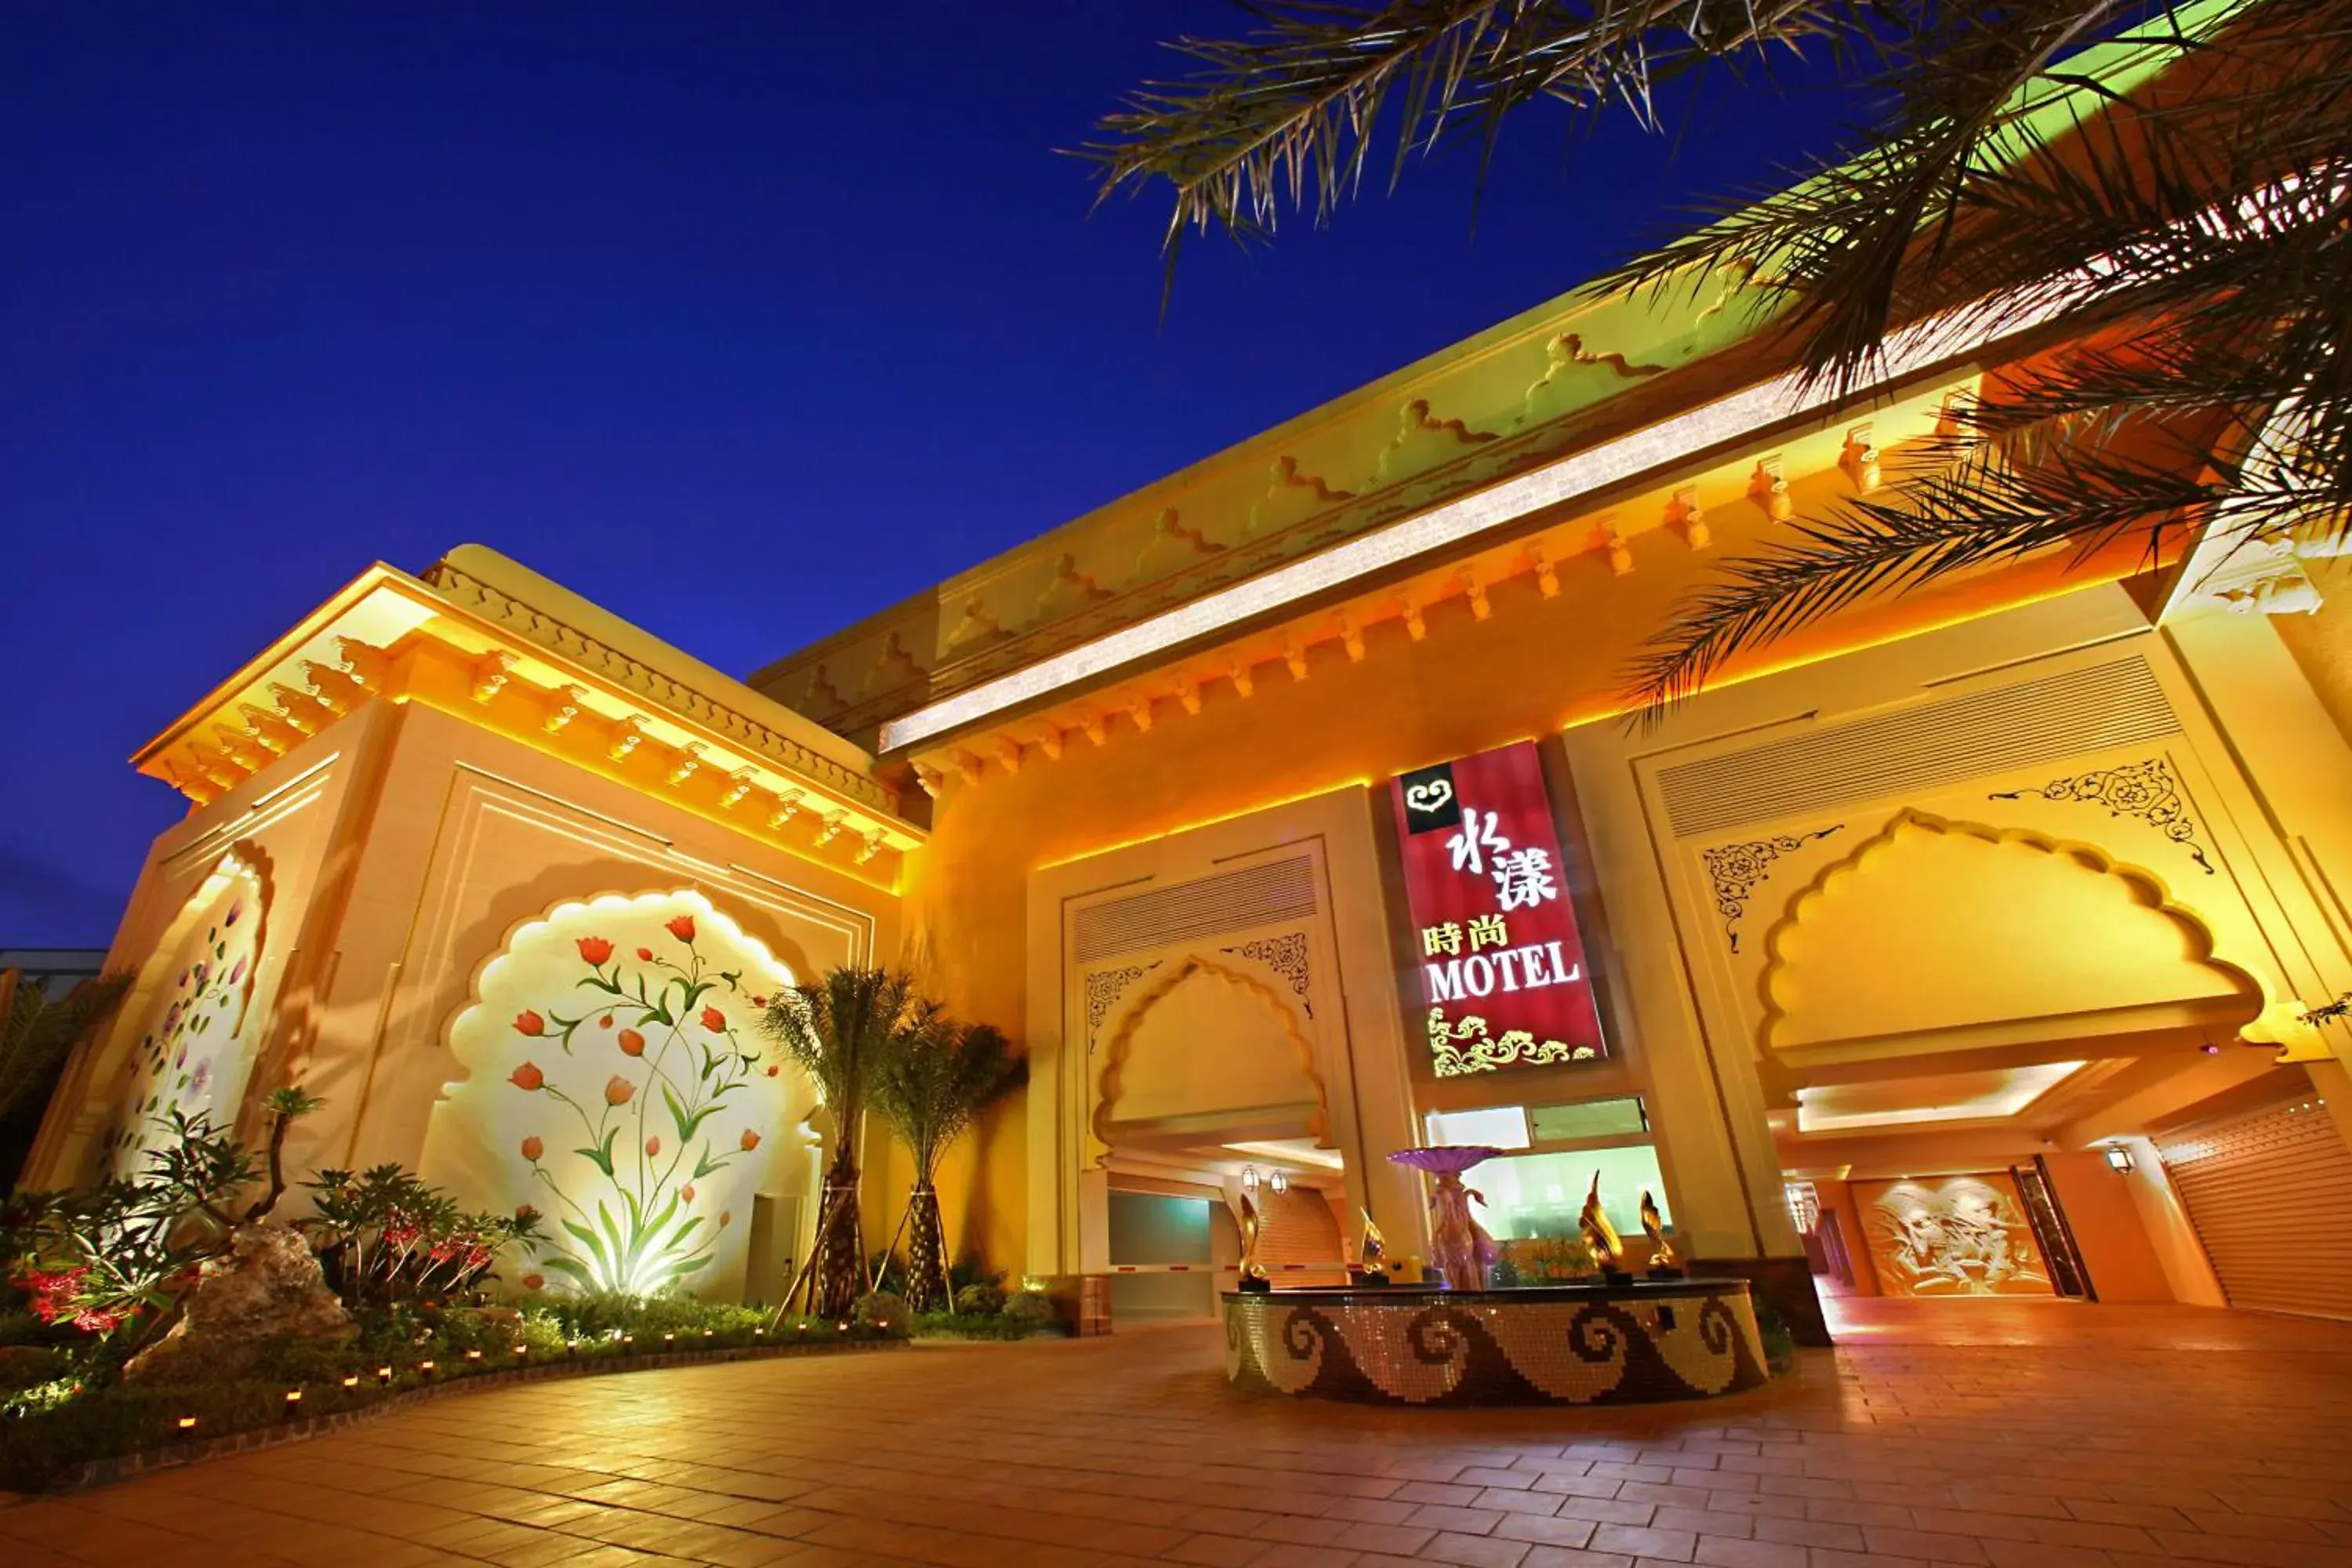
POLYGON ((555 1138, 555 1126, 529 1128, 517 1145, 562 1232, 550 1237, 541 1267, 581 1291, 649 1295, 715 1260, 734 1215, 699 1213, 694 1185, 760 1147, 762 1133, 739 1121, 762 1114, 774 1093, 743 1095, 771 1074, 729 1016, 729 1006, 760 1006, 764 997, 750 997, 741 969, 720 969, 699 947, 696 917, 670 912, 659 936, 628 936, 642 940, 574 936, 586 973, 572 992, 527 997, 534 1006, 513 1016, 515 1034, 576 1065, 560 1072, 553 1056, 534 1051, 536 1060, 520 1063, 506 1084, 543 1095, 562 1107, 557 1121, 579 1128, 576 1145, 555 1138), (597 1072, 607 1074, 602 1086, 597 1072), (724 1131, 710 1126, 727 1112, 736 1114, 724 1131), (550 1168, 550 1138, 586 1166, 550 1168), (583 1180, 588 1168, 600 1180, 583 1180))

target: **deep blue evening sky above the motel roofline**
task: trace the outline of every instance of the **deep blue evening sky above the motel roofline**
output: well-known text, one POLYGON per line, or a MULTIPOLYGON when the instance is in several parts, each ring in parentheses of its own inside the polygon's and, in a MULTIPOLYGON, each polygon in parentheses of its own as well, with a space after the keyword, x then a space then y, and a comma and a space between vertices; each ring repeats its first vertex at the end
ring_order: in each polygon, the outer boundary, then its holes
POLYGON ((0 945, 103 945, 125 757, 480 541, 746 672, 1538 303, 1832 106, 1505 143, 1235 254, 1054 153, 1214 0, 0 9, 0 945))

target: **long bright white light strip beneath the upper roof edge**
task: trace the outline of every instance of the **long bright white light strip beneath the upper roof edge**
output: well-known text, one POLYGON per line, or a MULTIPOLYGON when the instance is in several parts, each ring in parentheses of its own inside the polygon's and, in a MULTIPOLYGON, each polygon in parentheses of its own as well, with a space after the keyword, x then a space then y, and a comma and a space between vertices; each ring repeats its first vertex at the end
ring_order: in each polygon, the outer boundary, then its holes
MULTIPOLYGON (((1886 341, 1879 376, 1867 390, 1882 390, 1912 371, 1940 360, 1973 353, 1994 336, 2009 336, 2039 327, 2065 306, 2067 289, 2042 292, 2042 299, 2020 308, 2016 317, 1990 310, 1950 313, 1896 331, 1886 341), (1983 322, 2002 320, 1999 331, 1983 329, 1983 322)), ((1559 458, 1534 473, 1505 480, 1475 496, 1449 501, 1439 508, 1406 517, 1378 534, 1352 538, 1322 555, 1289 567, 1277 567, 1263 576, 1218 592, 1202 595, 1190 604, 1162 611, 1148 621, 1096 637, 1082 646, 1042 658, 1025 670, 1000 675, 946 701, 917 708, 903 719, 882 724, 880 748, 894 752, 934 736, 978 724, 981 719, 1042 698, 1061 686, 1075 686, 1103 677, 1138 658, 1162 654, 1197 637, 1225 630, 1265 611, 1296 604, 1298 599, 1338 588, 1374 571, 1404 564, 1430 550, 1484 534, 1529 512, 1538 512, 1564 501, 1576 501, 1595 491, 1621 484, 1635 475, 1684 461, 1691 451, 1719 447, 1752 437, 1764 428, 1797 414, 1839 402, 1828 383, 1804 386, 1797 371, 1776 376, 1729 397, 1717 397, 1696 409, 1686 409, 1668 421, 1602 442, 1588 451, 1559 458)))

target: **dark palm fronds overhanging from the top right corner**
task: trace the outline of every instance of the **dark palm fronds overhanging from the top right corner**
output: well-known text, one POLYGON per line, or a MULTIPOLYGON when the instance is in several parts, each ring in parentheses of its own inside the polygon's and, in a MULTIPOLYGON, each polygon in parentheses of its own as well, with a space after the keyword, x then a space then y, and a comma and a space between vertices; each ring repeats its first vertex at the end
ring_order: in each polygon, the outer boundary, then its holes
POLYGON ((2044 550, 2340 548, 2352 505, 2352 0, 1322 0, 1185 38, 1087 148, 1188 230, 1327 219, 1381 148, 1550 99, 1658 125, 1658 89, 1828 49, 1860 150, 1712 202, 1602 289, 1740 284, 1811 381, 1858 393, 1910 324, 2067 343, 1957 409, 1912 482, 1799 520, 1689 597, 1630 672, 1646 712, 1856 599, 2044 550), (2098 52, 2093 52, 2093 47, 2098 52), (2150 80, 2133 71, 2161 56, 2150 80))

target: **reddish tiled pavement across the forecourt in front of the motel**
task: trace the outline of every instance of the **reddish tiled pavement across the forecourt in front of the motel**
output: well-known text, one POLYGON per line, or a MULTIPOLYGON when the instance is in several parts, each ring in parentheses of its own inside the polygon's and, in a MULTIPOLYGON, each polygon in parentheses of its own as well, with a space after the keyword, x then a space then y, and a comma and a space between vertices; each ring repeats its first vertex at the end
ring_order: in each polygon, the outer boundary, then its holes
POLYGON ((1247 1396, 1211 1328, 522 1385, 0 1509, 0 1566, 2352 1568, 2352 1324, 1842 1314, 1630 1410, 1247 1396))

